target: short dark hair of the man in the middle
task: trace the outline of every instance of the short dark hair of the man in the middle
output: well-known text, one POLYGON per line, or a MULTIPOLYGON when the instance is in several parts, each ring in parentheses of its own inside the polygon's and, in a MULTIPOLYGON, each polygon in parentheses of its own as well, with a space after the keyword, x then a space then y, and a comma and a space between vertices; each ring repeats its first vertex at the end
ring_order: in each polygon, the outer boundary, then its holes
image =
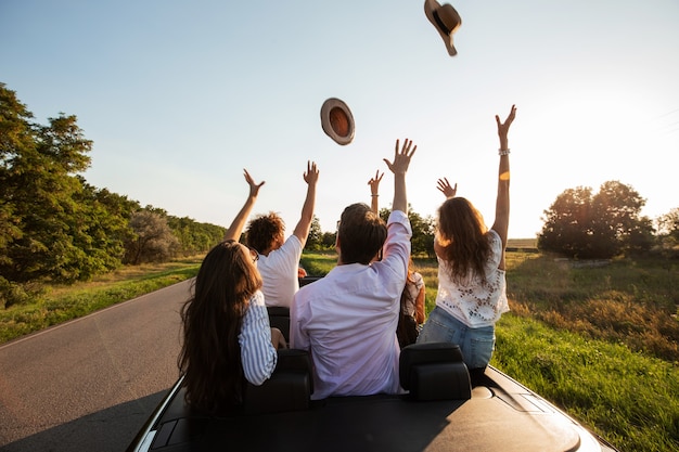
POLYGON ((368 264, 384 245, 387 230, 367 204, 357 203, 342 212, 337 234, 342 263, 368 264))

